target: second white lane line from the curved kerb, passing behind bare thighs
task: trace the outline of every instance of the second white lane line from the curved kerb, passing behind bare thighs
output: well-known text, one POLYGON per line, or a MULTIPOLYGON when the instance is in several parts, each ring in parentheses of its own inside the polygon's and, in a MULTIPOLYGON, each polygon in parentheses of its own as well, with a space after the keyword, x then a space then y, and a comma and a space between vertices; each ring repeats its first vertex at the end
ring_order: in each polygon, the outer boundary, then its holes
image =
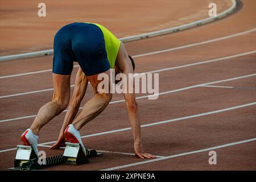
MULTIPOLYGON (((185 68, 185 67, 192 67, 192 66, 200 65, 200 64, 213 63, 213 62, 216 62, 216 61, 228 60, 228 59, 232 59, 234 57, 250 55, 252 53, 256 53, 256 50, 255 51, 244 52, 244 53, 239 53, 237 55, 232 55, 232 56, 220 57, 218 59, 212 59, 212 60, 207 60, 207 61, 199 61, 197 63, 185 64, 185 65, 180 65, 180 66, 177 66, 177 67, 158 69, 158 70, 155 70, 155 71, 139 73, 139 74, 137 73, 137 74, 138 75, 142 75, 142 74, 146 74, 146 73, 159 73, 159 72, 164 72, 164 71, 171 71, 171 70, 174 70, 174 69, 180 69, 180 68, 185 68)), ((75 86, 75 85, 71 85, 71 87, 73 87, 73 86, 75 86)), ((9 98, 9 97, 15 97, 15 96, 23 96, 23 95, 26 95, 26 94, 48 92, 48 91, 52 91, 52 90, 53 90, 53 88, 43 89, 43 90, 35 90, 35 91, 31 91, 31 92, 23 92, 23 93, 10 94, 10 95, 6 95, 6 96, 0 96, 0 98, 9 98)))

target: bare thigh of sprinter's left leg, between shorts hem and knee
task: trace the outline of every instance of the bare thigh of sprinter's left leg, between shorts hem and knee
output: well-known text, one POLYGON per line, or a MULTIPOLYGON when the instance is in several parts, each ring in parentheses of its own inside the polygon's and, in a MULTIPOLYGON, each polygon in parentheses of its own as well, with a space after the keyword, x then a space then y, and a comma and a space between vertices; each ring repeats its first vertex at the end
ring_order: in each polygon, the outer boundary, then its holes
POLYGON ((71 75, 58 75, 52 73, 53 98, 60 102, 68 102, 70 96, 70 77, 71 75))

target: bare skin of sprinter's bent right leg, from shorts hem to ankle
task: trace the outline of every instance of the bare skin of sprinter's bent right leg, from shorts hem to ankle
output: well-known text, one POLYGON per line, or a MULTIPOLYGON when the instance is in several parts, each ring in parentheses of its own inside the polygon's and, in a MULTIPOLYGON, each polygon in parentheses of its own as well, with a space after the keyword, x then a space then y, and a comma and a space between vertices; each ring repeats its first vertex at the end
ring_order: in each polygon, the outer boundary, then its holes
MULTIPOLYGON (((109 102, 112 100, 112 93, 110 93, 110 69, 104 72, 108 75, 109 78, 109 88, 99 88, 101 80, 97 80, 97 75, 87 76, 88 80, 93 86, 94 96, 90 99, 84 107, 82 107, 81 113, 73 121, 73 126, 75 129, 80 130, 82 126, 91 121, 93 118, 97 117, 105 108, 109 105, 109 102), (107 90, 107 92, 105 92, 107 90)), ((100 73, 101 74, 101 73, 100 73)))

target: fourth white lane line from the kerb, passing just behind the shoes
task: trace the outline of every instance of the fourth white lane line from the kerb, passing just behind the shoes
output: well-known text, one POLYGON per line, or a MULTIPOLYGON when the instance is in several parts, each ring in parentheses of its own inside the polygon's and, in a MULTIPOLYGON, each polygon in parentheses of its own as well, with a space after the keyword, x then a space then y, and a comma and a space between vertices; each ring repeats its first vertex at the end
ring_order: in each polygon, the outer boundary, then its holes
MULTIPOLYGON (((189 115, 187 117, 169 119, 169 120, 166 120, 166 121, 153 122, 153 123, 150 123, 150 124, 141 125, 141 127, 161 125, 161 124, 164 124, 164 123, 170 123, 170 122, 175 122, 175 121, 183 121, 184 119, 190 119, 190 118, 196 118, 196 117, 201 117, 201 116, 210 115, 210 114, 222 113, 222 112, 225 112, 225 111, 234 110, 234 109, 240 109, 242 107, 248 107, 248 106, 253 106, 253 105, 256 105, 256 102, 251 102, 249 104, 243 104, 243 105, 228 107, 228 108, 220 109, 220 110, 209 111, 207 113, 200 113, 200 114, 195 114, 195 115, 189 115)), ((127 130, 131 130, 131 127, 126 127, 126 128, 118 129, 118 130, 110 130, 110 131, 105 131, 105 132, 95 133, 95 134, 90 134, 90 135, 84 135, 81 138, 95 137, 95 136, 99 136, 99 135, 112 134, 112 133, 117 133, 117 132, 120 132, 120 131, 127 131, 127 130)), ((51 141, 51 142, 39 143, 39 145, 45 146, 45 145, 52 144, 52 143, 55 143, 55 142, 57 142, 57 141, 55 140, 55 141, 51 141)), ((0 153, 6 152, 6 151, 11 151, 11 150, 16 150, 16 148, 0 150, 0 153)))

